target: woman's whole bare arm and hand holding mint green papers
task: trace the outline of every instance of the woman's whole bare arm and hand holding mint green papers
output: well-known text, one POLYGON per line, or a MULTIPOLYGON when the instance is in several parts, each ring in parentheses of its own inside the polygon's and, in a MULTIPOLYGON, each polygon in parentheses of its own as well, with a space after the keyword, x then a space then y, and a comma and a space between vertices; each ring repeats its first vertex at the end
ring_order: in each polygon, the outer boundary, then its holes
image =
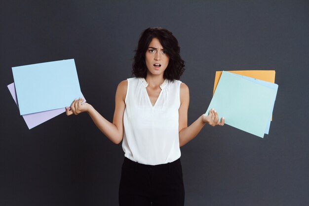
POLYGON ((218 114, 215 110, 211 110, 209 115, 201 115, 193 124, 188 126, 188 108, 190 102, 189 88, 186 84, 180 85, 180 107, 179 107, 179 146, 182 147, 190 142, 207 123, 212 126, 224 125, 224 118, 219 122, 218 114))

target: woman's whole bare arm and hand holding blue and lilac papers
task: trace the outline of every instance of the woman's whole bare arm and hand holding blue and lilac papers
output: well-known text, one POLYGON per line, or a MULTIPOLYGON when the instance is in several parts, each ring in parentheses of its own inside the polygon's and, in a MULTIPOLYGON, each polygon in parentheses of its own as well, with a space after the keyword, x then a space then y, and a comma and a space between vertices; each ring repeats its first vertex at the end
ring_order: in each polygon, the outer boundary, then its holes
POLYGON ((105 134, 112 142, 119 144, 123 138, 123 113, 125 109, 125 95, 127 90, 127 81, 118 84, 115 97, 115 112, 113 123, 106 120, 90 104, 82 103, 82 99, 74 100, 69 108, 66 108, 67 115, 78 115, 87 112, 94 124, 105 134))

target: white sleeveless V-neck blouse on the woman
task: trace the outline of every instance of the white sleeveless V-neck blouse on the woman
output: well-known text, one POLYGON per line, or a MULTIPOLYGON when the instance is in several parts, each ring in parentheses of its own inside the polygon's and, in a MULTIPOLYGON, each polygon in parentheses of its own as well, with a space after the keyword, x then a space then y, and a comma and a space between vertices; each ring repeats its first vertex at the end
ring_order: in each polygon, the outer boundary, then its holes
POLYGON ((144 78, 127 79, 123 115, 122 149, 128 159, 145 165, 160 165, 180 158, 180 84, 165 80, 152 105, 144 78))

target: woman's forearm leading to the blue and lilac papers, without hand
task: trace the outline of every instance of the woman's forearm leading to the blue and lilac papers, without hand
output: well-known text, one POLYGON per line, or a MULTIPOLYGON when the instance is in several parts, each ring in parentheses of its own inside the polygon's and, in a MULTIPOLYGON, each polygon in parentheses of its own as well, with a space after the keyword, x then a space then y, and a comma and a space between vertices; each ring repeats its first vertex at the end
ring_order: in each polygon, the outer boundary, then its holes
POLYGON ((106 120, 100 113, 98 113, 91 105, 87 111, 94 124, 105 134, 112 142, 119 144, 123 137, 123 128, 117 126, 106 120))

